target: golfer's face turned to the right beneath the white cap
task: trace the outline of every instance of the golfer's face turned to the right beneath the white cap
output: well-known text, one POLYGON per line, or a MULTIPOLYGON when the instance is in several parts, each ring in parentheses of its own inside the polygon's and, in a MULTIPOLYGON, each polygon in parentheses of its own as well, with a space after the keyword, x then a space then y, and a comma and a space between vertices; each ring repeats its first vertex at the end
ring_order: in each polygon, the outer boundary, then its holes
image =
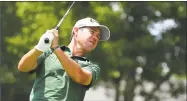
POLYGON ((78 29, 77 42, 86 52, 90 52, 95 49, 99 39, 99 27, 82 27, 78 29))

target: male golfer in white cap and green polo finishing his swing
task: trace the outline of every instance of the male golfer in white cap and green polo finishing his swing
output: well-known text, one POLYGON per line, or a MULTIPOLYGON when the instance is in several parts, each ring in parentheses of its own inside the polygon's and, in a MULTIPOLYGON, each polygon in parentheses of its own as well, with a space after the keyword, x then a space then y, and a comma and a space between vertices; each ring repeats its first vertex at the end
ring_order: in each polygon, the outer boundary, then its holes
POLYGON ((76 22, 68 46, 59 46, 57 30, 47 30, 18 64, 19 71, 36 73, 30 101, 83 101, 100 75, 100 67, 85 55, 109 37, 108 27, 90 17, 76 22))

